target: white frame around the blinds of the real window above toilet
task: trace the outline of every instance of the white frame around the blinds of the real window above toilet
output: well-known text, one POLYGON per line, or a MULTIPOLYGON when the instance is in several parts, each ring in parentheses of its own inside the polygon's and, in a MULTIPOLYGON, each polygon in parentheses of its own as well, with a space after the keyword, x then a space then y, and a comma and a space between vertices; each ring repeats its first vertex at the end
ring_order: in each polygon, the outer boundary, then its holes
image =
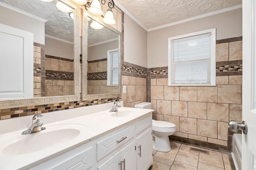
POLYGON ((198 31, 194 33, 188 33, 184 35, 178 35, 175 37, 168 38, 168 86, 216 86, 216 28, 207 29, 204 31, 198 31), (172 40, 182 39, 186 37, 198 36, 202 34, 211 33, 211 65, 210 65, 210 84, 199 84, 199 83, 175 83, 172 84, 172 40))

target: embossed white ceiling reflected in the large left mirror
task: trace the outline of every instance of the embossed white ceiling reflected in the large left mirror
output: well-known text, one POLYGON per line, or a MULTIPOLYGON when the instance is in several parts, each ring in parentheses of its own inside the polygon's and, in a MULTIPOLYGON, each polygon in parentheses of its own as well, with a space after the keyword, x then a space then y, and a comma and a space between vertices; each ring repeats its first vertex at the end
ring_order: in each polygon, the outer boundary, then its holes
POLYGON ((5 4, 11 5, 30 14, 44 18, 45 33, 70 43, 74 42, 74 21, 68 13, 58 10, 57 0, 43 2, 41 0, 0 0, 5 4))

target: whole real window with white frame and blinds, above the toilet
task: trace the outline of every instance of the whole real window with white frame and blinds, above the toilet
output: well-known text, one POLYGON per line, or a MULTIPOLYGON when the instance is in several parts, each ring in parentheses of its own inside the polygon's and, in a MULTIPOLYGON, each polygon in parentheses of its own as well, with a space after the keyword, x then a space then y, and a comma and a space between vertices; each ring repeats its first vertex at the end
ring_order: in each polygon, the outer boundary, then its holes
POLYGON ((216 85, 216 28, 168 38, 168 85, 216 85))

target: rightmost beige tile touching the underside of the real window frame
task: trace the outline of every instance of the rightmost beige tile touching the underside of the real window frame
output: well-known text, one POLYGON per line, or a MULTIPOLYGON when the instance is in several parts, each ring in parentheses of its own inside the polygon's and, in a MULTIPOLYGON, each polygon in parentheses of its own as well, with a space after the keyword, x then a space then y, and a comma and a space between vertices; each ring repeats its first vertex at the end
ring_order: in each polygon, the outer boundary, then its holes
POLYGON ((214 102, 217 103, 217 87, 216 86, 198 86, 197 87, 198 102, 214 102))

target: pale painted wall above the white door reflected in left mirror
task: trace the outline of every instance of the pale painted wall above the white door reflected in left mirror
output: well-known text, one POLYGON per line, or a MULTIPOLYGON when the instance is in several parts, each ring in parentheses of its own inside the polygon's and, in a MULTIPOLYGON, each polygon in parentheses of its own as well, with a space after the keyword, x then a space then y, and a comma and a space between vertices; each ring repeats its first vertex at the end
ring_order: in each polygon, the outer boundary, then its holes
POLYGON ((34 33, 34 42, 44 44, 44 22, 0 6, 0 23, 34 33))

